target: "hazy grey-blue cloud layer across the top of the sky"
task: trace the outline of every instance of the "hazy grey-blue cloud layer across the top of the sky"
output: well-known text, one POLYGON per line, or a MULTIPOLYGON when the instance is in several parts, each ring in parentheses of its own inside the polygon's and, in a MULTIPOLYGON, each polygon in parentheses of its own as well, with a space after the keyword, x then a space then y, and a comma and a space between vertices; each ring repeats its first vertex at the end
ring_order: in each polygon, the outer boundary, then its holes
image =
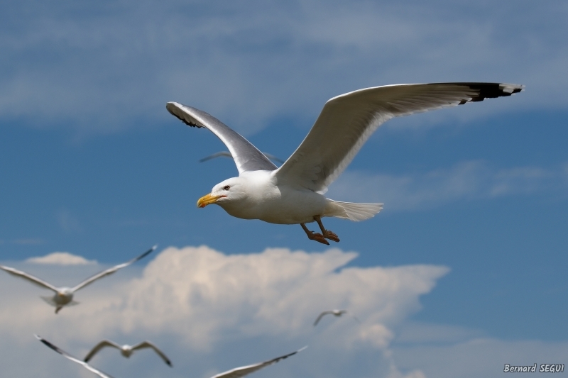
POLYGON ((283 115, 308 127, 324 101, 346 91, 452 80, 530 89, 498 106, 460 109, 469 118, 568 101, 559 4, 133 4, 7 6, 0 117, 109 132, 163 121, 165 101, 180 101, 252 133, 283 115))

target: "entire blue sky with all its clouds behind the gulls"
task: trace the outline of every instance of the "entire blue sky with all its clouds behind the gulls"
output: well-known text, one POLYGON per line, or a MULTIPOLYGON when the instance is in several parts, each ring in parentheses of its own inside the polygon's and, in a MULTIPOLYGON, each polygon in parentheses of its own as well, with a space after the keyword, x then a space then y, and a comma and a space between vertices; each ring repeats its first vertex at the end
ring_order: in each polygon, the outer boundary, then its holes
POLYGON ((116 378, 208 378, 304 345, 253 377, 567 364, 567 16, 562 1, 6 2, 0 264, 71 286, 158 250, 58 315, 48 291, 0 272, 3 371, 93 377, 33 333, 80 357, 148 339, 174 365, 93 358, 116 378), (198 162, 224 145, 165 110, 207 111, 285 159, 334 96, 454 81, 525 91, 381 126, 326 195, 384 210, 325 218, 329 247, 197 209, 236 168, 198 162), (329 308, 360 323, 314 328, 329 308))

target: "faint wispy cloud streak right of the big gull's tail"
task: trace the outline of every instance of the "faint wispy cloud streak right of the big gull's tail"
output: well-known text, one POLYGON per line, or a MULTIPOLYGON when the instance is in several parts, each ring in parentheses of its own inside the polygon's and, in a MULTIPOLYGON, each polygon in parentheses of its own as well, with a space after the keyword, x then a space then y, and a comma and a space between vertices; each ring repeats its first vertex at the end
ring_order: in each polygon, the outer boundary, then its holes
POLYGON ((343 201, 383 202, 386 210, 436 206, 460 199, 492 199, 506 195, 557 191, 568 184, 566 165, 558 169, 495 169, 484 161, 461 162, 425 173, 367 174, 344 172, 327 196, 343 201))

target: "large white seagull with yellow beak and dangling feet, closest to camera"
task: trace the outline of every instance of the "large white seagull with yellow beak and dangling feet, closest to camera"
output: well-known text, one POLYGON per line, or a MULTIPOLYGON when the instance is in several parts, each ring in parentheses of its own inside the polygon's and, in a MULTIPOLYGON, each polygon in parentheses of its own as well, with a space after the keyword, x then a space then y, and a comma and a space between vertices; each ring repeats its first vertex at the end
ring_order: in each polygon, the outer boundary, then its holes
POLYGON ((329 245, 337 234, 324 228, 322 217, 364 221, 383 204, 355 204, 327 199, 327 191, 371 134, 397 116, 430 111, 486 98, 510 96, 518 84, 395 84, 351 91, 329 99, 312 130, 281 167, 224 123, 199 109, 168 102, 166 109, 187 126, 207 128, 234 157, 239 177, 215 185, 197 206, 221 206, 229 215, 268 223, 300 224, 307 238, 329 245), (305 223, 317 222, 322 233, 305 223))

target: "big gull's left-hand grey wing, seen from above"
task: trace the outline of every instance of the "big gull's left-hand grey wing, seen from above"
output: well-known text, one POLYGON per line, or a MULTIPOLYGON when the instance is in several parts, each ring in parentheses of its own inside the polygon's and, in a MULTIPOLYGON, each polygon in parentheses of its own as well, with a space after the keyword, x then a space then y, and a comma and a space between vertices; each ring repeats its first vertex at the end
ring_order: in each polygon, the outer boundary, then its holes
POLYGON ((231 155, 234 157, 236 169, 239 169, 239 174, 246 171, 273 171, 277 168, 249 140, 243 138, 236 131, 231 130, 229 126, 226 126, 214 116, 177 102, 168 102, 165 105, 165 109, 168 109, 173 116, 178 117, 187 126, 208 128, 217 135, 225 143, 226 147, 229 148, 231 155))

